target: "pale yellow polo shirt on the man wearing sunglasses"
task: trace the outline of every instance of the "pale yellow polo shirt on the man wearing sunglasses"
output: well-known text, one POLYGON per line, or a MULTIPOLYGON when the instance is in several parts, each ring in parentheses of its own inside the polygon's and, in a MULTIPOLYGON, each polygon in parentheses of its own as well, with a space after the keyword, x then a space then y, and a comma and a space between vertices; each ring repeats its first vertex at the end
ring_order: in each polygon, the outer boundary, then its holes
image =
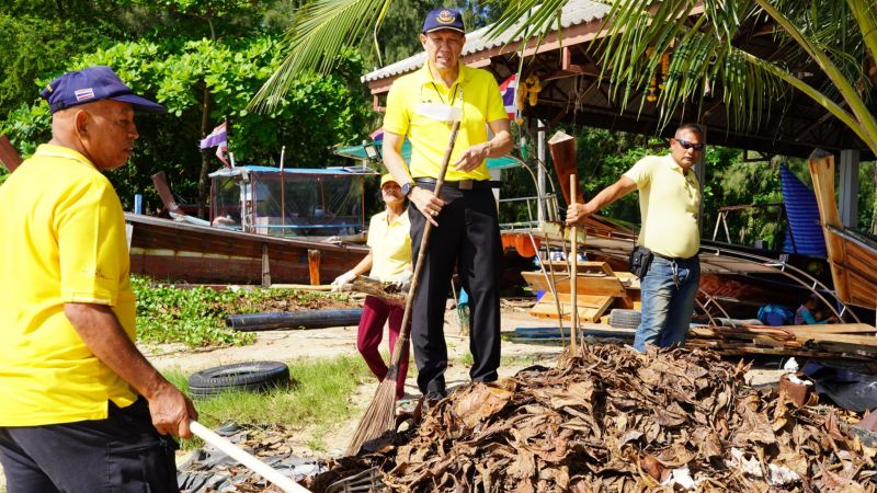
POLYGON ((664 256, 696 255, 701 248, 701 185, 694 171, 683 174, 670 154, 647 156, 624 175, 639 190, 642 227, 637 243, 664 256))

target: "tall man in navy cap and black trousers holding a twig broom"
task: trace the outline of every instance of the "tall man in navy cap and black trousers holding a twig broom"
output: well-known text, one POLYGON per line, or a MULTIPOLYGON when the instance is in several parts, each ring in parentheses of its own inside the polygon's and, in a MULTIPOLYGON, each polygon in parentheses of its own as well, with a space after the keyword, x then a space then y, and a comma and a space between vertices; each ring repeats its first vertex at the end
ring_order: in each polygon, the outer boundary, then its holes
POLYGON ((396 80, 387 95, 384 164, 410 199, 414 259, 426 221, 435 227, 411 317, 418 387, 430 403, 445 394, 444 311, 454 266, 470 300, 469 376, 474 381, 497 379, 502 244, 486 159, 509 152, 512 139, 497 80, 460 61, 466 35, 459 11, 440 8, 426 14, 420 43, 426 50, 423 67, 396 80), (441 197, 432 191, 451 125, 431 118, 434 112, 429 110, 436 107, 462 116, 441 197), (410 170, 401 156, 406 136, 412 148, 410 170))

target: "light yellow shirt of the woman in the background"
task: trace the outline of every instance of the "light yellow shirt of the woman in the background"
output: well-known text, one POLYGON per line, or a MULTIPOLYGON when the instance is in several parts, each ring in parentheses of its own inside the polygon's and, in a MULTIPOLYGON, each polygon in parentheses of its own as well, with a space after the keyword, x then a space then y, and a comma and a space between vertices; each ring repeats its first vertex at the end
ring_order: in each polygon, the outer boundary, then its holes
POLYGON ((387 211, 372 216, 368 223, 368 246, 372 248, 369 277, 391 282, 411 268, 411 222, 408 211, 387 223, 387 211))

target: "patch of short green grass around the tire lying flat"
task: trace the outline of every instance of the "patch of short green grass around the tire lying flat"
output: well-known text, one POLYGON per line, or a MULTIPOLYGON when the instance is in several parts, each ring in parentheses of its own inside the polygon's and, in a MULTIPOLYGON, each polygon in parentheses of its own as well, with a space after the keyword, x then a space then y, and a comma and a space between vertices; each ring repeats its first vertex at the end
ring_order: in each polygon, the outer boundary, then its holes
MULTIPOLYGON (((198 421, 215 427, 226 422, 242 424, 282 424, 296 429, 309 428, 315 449, 323 450, 321 437, 342 421, 350 420, 357 405, 351 397, 364 381, 374 377, 358 356, 291 362, 293 386, 267 393, 230 391, 200 400, 198 421)), ((189 391, 187 376, 169 371, 166 377, 189 391)), ((183 440, 182 448, 201 446, 200 440, 183 440)))

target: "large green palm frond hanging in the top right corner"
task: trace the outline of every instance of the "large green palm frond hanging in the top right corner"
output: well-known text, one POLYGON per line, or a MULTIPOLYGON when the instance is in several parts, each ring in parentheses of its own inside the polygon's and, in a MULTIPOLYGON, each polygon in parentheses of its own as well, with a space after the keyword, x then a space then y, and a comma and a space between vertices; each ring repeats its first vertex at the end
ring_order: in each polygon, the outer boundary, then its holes
MULTIPOLYGON (((875 25, 875 8, 867 0, 847 3, 825 8, 799 0, 616 0, 592 49, 601 57, 601 76, 612 83, 612 95, 620 99, 622 107, 648 90, 660 55, 672 50, 670 73, 657 102, 661 126, 690 103, 704 107, 705 81, 720 85, 729 123, 749 128, 761 124, 772 101, 795 88, 877 152, 877 123, 865 101, 868 91, 857 92, 851 82, 862 74, 863 37, 877 44, 877 34, 862 35, 875 25), (736 46, 750 35, 744 26, 765 22, 778 26, 774 32, 778 51, 760 58, 736 46), (856 22, 862 32, 850 30, 856 22), (828 77, 819 89, 793 70, 813 65, 828 77)), ((640 111, 645 104, 641 98, 640 111)))

